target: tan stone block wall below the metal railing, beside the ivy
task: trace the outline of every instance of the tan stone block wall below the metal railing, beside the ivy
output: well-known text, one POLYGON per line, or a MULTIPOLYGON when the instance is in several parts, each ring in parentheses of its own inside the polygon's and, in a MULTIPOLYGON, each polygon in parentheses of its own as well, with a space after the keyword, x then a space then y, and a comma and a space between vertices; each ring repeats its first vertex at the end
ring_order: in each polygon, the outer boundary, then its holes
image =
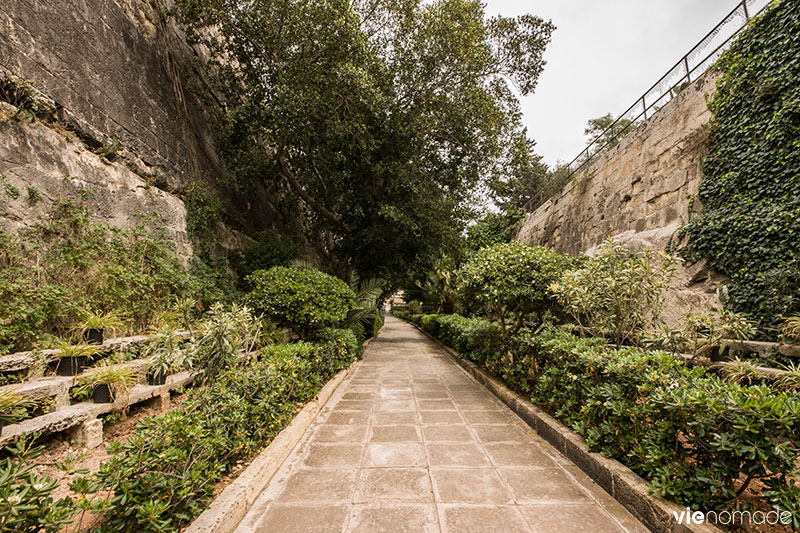
MULTIPOLYGON (((515 239, 569 253, 591 254, 607 237, 631 249, 665 248, 701 207, 693 198, 715 82, 709 72, 681 91, 528 214, 515 239)), ((662 318, 675 324, 689 310, 719 306, 724 281, 704 264, 681 267, 662 318)))

